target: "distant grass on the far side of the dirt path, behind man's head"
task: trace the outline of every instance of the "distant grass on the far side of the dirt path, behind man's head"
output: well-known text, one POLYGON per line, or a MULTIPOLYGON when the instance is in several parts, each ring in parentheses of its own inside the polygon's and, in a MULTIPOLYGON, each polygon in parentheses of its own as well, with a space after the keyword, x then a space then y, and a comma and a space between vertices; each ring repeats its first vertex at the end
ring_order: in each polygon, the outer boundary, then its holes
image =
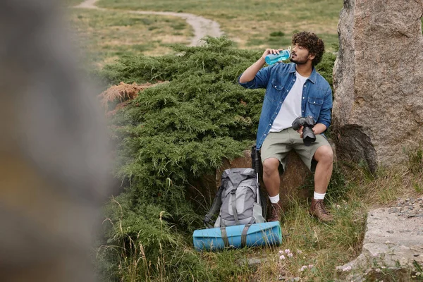
POLYGON ((325 39, 329 51, 338 42, 336 27, 342 0, 288 1, 168 1, 100 0, 98 6, 122 10, 173 11, 194 13, 216 20, 238 47, 265 49, 286 47, 295 31, 310 30, 325 39), (269 40, 283 32, 281 40, 269 40))

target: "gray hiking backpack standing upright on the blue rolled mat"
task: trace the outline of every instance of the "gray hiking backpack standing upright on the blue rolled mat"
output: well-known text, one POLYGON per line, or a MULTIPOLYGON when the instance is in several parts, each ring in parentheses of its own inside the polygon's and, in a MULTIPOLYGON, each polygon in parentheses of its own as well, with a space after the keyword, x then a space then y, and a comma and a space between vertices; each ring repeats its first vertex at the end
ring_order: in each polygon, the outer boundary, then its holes
POLYGON ((264 222, 257 174, 253 168, 228 168, 223 171, 212 208, 204 219, 206 227, 213 227, 210 221, 218 210, 215 228, 264 222))

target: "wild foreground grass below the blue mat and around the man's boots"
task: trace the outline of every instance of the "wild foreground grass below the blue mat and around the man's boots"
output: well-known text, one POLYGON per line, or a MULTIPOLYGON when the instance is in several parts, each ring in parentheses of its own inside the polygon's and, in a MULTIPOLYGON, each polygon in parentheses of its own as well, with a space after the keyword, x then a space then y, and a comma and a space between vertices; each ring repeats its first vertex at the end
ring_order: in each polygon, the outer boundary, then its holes
MULTIPOLYGON (((337 274, 336 266, 350 262, 360 254, 369 209, 392 204, 397 197, 419 197, 412 183, 420 181, 423 174, 381 168, 376 175, 369 177, 360 164, 343 163, 337 164, 336 169, 336 179, 332 179, 331 183, 331 189, 335 190, 332 195, 336 197, 326 199, 335 217, 333 223, 320 223, 313 219, 307 212, 309 204, 293 198, 281 221, 282 245, 197 253, 190 246, 189 240, 192 238, 185 238, 188 239, 185 243, 179 238, 173 247, 175 255, 180 257, 166 257, 160 249, 156 269, 145 258, 142 245, 129 240, 126 244, 135 257, 128 257, 123 255, 123 251, 116 250, 121 253, 119 266, 122 281, 264 282, 280 281, 282 277, 286 280, 300 278, 300 281, 333 281, 340 278, 342 281, 342 276, 347 273, 337 274), (336 190, 343 191, 337 193, 336 190), (391 196, 384 195, 386 190, 392 190, 391 196), (288 257, 287 250, 292 253, 291 257, 288 257), (280 259, 281 253, 285 259, 280 259), (184 264, 193 264, 183 267, 189 270, 178 274, 184 277, 178 280, 173 280, 175 274, 169 271, 175 259, 184 264), (259 262, 248 264, 250 259, 259 259, 259 262)), ((396 277, 403 275, 400 271, 388 273, 388 269, 382 269, 381 273, 374 274, 378 278, 396 277)), ((410 274, 416 275, 415 272, 411 271, 410 274)), ((374 281, 374 274, 369 274, 370 281, 374 281)))

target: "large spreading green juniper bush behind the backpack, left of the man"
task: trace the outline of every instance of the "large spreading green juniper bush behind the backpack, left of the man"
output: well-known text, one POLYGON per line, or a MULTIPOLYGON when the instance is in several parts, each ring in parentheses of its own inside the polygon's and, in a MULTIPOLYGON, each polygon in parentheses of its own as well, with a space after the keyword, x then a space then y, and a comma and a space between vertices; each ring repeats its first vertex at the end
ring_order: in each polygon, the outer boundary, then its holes
MULTIPOLYGON (((106 207, 103 276, 227 280, 191 250, 190 234, 206 211, 194 209, 186 192, 190 180, 213 174, 223 158, 255 142, 264 90, 245 91, 237 82, 262 51, 234 49, 224 37, 206 40, 203 47, 175 46, 177 56, 123 58, 97 74, 109 84, 169 81, 140 92, 111 121, 115 175, 125 192, 106 207)), ((318 66, 326 78, 330 62, 318 66)))

